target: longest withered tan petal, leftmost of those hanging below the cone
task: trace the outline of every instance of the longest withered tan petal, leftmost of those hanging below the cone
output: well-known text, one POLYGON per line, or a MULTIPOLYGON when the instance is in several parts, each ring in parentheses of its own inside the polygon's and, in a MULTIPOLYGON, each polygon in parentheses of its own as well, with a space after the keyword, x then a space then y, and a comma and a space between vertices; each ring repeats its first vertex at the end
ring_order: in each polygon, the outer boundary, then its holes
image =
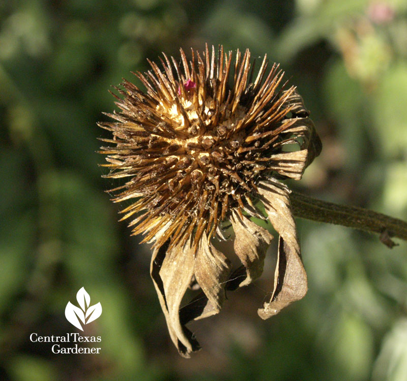
MULTIPOLYGON (((167 242, 168 243, 168 242, 167 242)), ((167 250, 168 244, 154 250, 150 274, 168 326, 172 342, 180 355, 189 358, 199 344, 180 321, 180 304, 193 275, 194 251, 191 241, 167 250)))

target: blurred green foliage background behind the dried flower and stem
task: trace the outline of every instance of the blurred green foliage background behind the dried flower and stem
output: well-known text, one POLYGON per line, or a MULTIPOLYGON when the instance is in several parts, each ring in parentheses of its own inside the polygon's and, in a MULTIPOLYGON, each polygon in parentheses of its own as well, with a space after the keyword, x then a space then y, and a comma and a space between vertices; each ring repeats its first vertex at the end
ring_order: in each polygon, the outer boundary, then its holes
MULTIPOLYGON (((110 85, 179 48, 249 47, 281 63, 324 149, 308 195, 407 219, 405 0, 3 0, 0 2, 0 379, 407 379, 407 244, 298 220, 303 301, 263 321, 263 277, 193 323, 203 349, 179 357, 149 276, 150 250, 104 191, 96 126, 110 85), (100 355, 53 355, 29 335, 75 332, 84 286, 103 313, 100 355)), ((137 83, 137 81, 136 81, 137 83)))

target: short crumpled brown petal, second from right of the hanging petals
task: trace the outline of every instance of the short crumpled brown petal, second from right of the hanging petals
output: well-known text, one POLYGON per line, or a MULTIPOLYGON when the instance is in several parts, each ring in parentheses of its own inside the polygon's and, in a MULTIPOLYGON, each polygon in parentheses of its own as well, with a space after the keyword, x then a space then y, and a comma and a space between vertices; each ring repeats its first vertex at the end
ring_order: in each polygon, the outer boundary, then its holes
POLYGON ((247 286, 263 273, 264 258, 273 236, 264 228, 234 211, 230 219, 235 231, 235 253, 246 268, 239 287, 247 286))

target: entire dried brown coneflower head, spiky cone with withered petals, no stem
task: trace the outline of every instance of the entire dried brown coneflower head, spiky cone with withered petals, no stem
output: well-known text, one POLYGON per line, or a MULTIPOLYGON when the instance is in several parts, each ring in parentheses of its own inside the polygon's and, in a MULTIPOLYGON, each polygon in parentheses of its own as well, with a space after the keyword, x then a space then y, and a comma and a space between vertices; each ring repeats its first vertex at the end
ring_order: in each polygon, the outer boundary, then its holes
POLYGON ((271 300, 262 318, 302 298, 307 291, 289 190, 278 180, 300 179, 321 152, 321 141, 301 96, 282 83, 278 65, 267 57, 254 77, 247 49, 232 59, 220 46, 202 56, 191 50, 181 65, 163 53, 162 68, 135 75, 143 92, 127 80, 115 120, 100 123, 111 131, 108 178, 125 178, 111 189, 114 202, 130 200, 121 213, 132 217, 133 234, 153 242, 151 276, 172 341, 181 355, 199 348, 185 324, 219 312, 225 290, 245 286, 263 271, 272 235, 250 217, 268 220, 280 235, 271 300), (172 62, 172 63, 171 63, 172 62), (235 231, 234 249, 242 267, 213 246, 225 239, 222 224, 235 231), (181 308, 185 292, 200 293, 181 308))

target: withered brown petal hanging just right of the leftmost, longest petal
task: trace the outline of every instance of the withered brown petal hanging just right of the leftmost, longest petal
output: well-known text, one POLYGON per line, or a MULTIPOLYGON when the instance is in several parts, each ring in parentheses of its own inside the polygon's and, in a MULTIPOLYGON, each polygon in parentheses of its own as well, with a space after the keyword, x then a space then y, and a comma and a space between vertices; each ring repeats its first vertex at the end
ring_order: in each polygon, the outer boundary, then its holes
POLYGON ((195 319, 208 317, 220 311, 225 300, 225 285, 230 268, 230 261, 208 242, 204 232, 195 256, 194 274, 209 303, 195 319))

